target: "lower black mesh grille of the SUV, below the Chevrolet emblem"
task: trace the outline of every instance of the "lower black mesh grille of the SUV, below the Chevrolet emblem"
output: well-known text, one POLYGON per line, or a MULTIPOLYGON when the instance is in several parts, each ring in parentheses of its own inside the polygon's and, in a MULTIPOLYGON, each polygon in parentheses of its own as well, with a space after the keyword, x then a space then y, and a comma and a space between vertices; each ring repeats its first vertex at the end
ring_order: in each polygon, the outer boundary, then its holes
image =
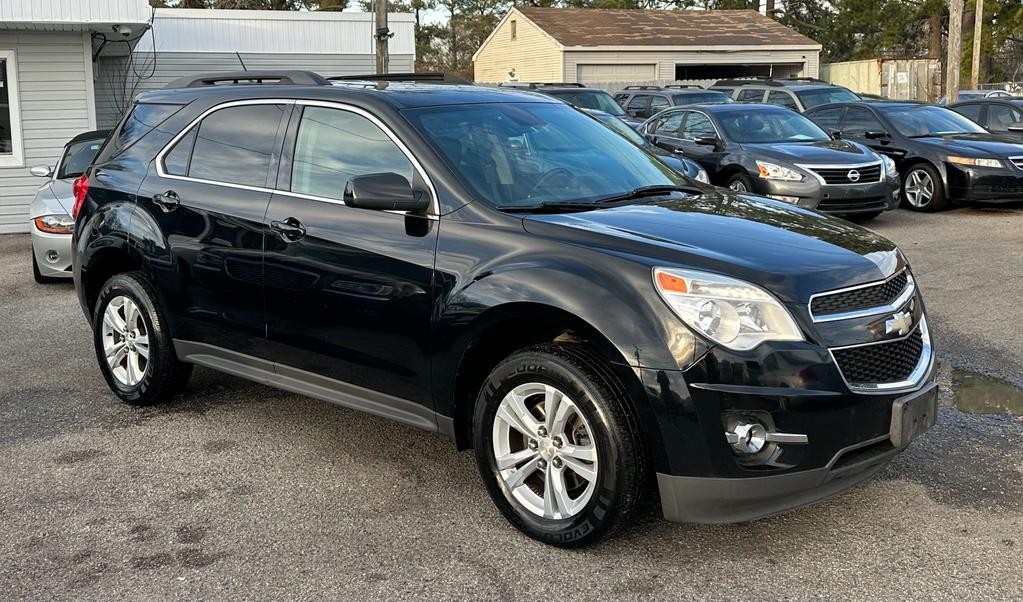
POLYGON ((924 335, 917 329, 904 339, 834 349, 832 354, 848 383, 897 383, 905 381, 920 363, 924 335))

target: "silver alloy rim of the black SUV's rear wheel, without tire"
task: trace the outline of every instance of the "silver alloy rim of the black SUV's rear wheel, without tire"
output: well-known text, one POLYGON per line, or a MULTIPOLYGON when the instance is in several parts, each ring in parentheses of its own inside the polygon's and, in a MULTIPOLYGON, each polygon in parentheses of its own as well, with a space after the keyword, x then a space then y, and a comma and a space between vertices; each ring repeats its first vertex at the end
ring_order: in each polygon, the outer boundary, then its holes
POLYGON ((106 365, 121 384, 134 387, 149 367, 149 332, 142 312, 134 301, 120 295, 106 304, 100 328, 106 365))

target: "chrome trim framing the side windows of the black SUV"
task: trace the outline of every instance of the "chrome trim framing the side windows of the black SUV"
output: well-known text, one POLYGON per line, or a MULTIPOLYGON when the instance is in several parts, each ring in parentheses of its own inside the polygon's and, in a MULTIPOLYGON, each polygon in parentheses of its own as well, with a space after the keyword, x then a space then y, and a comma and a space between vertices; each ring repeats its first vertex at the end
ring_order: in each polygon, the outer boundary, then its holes
MULTIPOLYGON (((249 99, 246 99, 246 100, 230 100, 230 101, 227 101, 227 102, 222 102, 222 103, 217 104, 215 106, 211 106, 210 109, 204 111, 202 115, 199 115, 198 117, 196 117, 195 119, 193 119, 187 126, 185 126, 184 129, 182 129, 173 138, 171 138, 170 142, 168 142, 163 148, 161 148, 160 153, 157 154, 157 158, 154 160, 155 163, 157 163, 157 174, 160 177, 162 177, 162 178, 167 178, 167 179, 172 179, 172 180, 182 180, 182 181, 187 181, 187 182, 197 182, 197 183, 202 183, 202 184, 211 184, 211 185, 215 185, 215 186, 227 186, 227 187, 230 187, 230 188, 238 188, 238 189, 242 189, 242 190, 253 190, 253 191, 256 191, 256 192, 269 192, 269 193, 272 193, 272 195, 286 195, 288 197, 299 197, 299 198, 302 198, 302 199, 309 199, 309 200, 312 200, 312 201, 321 201, 321 202, 333 203, 336 205, 345 205, 344 201, 341 201, 339 199, 328 199, 328 198, 325 198, 325 197, 316 197, 316 196, 313 196, 313 195, 304 195, 302 192, 292 192, 291 190, 282 190, 282 189, 279 189, 279 188, 270 188, 270 187, 266 187, 266 186, 250 186, 250 185, 247 185, 247 184, 235 184, 235 183, 232 183, 232 182, 222 182, 222 181, 218 181, 218 180, 207 180, 207 179, 203 179, 203 178, 193 178, 193 177, 188 177, 188 176, 180 176, 180 175, 174 175, 174 174, 167 173, 167 170, 164 167, 164 159, 171 152, 171 149, 174 148, 174 145, 177 144, 178 141, 181 140, 181 138, 185 137, 188 134, 188 132, 190 132, 192 130, 192 128, 196 127, 209 115, 211 115, 213 113, 216 113, 217 111, 220 111, 222 109, 230 109, 232 106, 246 106, 246 105, 250 105, 250 104, 295 104, 295 105, 300 105, 300 106, 322 106, 322 107, 326 107, 326 109, 336 109, 336 110, 339 110, 339 111, 347 111, 349 113, 354 113, 356 115, 364 117, 365 119, 369 120, 370 123, 372 123, 373 125, 375 125, 376 127, 379 127, 381 129, 381 131, 383 131, 384 134, 387 135, 387 137, 390 138, 392 142, 394 142, 394 144, 398 147, 398 149, 401 150, 402 154, 405 155, 405 157, 408 159, 408 161, 412 164, 412 168, 419 173, 419 176, 421 176, 422 180, 427 183, 427 187, 430 188, 430 195, 431 195, 430 210, 427 212, 428 217, 436 218, 437 215, 440 213, 440 211, 439 211, 439 201, 438 201, 438 197, 437 197, 437 188, 434 186, 433 180, 430 179, 430 176, 427 174, 427 170, 422 167, 422 164, 419 163, 419 160, 416 159, 416 157, 414 155, 412 155, 412 152, 409 150, 408 146, 406 146, 405 143, 402 142, 401 139, 398 138, 398 136, 393 131, 391 131, 391 128, 387 127, 387 125, 385 125, 384 122, 382 122, 380 119, 377 119, 376 116, 372 115, 371 113, 369 113, 369 112, 367 112, 367 111, 365 111, 363 109, 360 109, 358 106, 354 106, 354 105, 351 105, 351 104, 346 104, 344 102, 335 102, 335 101, 330 101, 330 100, 302 100, 302 99, 295 99, 295 98, 249 98, 249 99)), ((346 207, 347 207, 347 205, 346 205, 346 207)), ((405 214, 405 213, 408 213, 408 212, 407 211, 389 211, 388 213, 405 214)))

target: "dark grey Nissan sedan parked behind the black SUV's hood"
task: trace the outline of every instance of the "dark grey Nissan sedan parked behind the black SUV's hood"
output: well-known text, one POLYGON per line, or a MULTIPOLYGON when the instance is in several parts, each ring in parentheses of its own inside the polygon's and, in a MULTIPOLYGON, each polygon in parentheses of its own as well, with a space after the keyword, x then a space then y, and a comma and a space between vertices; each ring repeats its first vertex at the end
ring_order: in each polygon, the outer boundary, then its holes
POLYGON ((713 184, 861 219, 897 203, 889 159, 834 140, 802 115, 772 104, 706 104, 664 111, 641 131, 700 163, 713 184))

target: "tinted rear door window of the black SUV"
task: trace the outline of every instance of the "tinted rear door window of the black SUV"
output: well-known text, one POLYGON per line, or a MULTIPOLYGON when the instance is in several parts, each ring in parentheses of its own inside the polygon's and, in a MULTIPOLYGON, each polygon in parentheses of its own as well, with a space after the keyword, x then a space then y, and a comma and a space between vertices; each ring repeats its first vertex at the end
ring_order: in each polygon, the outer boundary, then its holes
POLYGON ((189 132, 175 144, 165 157, 164 168, 201 180, 264 187, 285 109, 283 104, 244 104, 216 111, 203 120, 194 135, 189 132))

